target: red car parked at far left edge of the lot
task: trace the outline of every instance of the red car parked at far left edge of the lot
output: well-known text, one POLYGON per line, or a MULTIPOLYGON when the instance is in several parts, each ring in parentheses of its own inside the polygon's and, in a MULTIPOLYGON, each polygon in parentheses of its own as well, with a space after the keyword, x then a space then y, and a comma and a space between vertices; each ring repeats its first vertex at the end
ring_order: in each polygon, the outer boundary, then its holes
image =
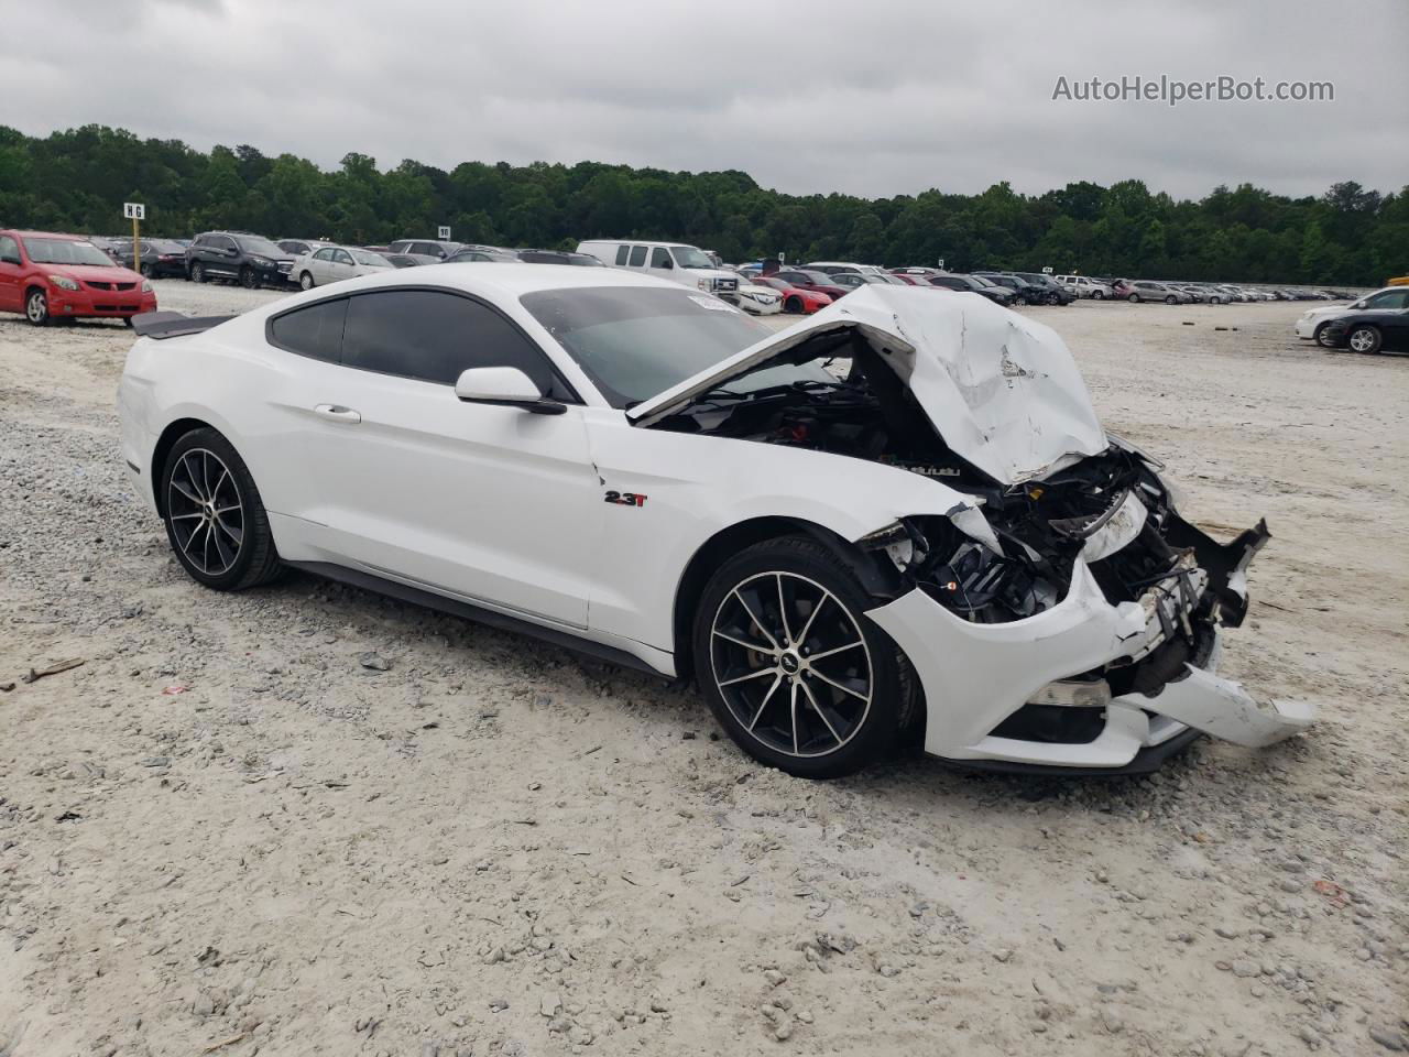
POLYGON ((0 231, 0 311, 51 320, 117 319, 156 310, 152 285, 79 235, 0 231))

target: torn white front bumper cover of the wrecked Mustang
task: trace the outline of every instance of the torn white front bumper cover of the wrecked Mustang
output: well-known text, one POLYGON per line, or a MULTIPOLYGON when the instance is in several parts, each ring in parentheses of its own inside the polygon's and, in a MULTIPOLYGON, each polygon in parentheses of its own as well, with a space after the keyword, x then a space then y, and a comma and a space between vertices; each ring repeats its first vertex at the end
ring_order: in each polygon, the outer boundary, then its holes
POLYGON ((1053 607, 974 623, 916 588, 868 610, 924 689, 924 750, 999 769, 1153 769, 1199 733, 1261 747, 1305 730, 1315 709, 1261 702, 1220 678, 1219 624, 1247 610, 1246 571, 1264 524, 1217 544, 1179 521, 1199 565, 1112 605, 1078 558, 1053 607))

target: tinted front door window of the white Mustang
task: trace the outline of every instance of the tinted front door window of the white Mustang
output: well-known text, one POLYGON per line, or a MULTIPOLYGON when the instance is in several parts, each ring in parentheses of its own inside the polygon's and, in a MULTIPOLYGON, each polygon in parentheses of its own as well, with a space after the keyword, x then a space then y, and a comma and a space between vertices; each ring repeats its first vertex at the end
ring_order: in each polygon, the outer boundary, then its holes
POLYGON ((542 350, 493 309, 440 290, 351 299, 344 366, 455 385, 472 366, 516 366, 541 392, 572 399, 542 350))

